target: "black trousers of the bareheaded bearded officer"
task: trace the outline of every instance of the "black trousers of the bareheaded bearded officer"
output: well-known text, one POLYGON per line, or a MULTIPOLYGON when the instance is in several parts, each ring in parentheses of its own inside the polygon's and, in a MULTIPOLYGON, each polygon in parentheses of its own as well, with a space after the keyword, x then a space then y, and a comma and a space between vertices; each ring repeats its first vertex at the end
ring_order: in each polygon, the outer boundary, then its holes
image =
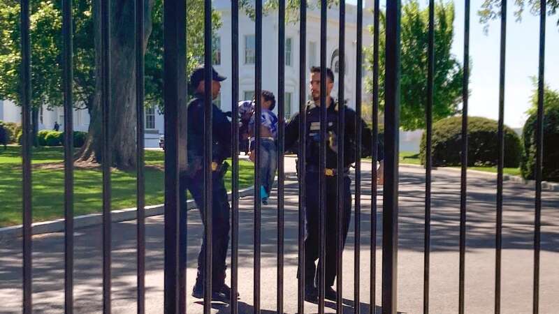
MULTIPOLYGON (((307 190, 305 199, 305 283, 318 284, 319 271, 323 262, 320 254, 320 190, 319 173, 307 172, 307 190), (315 262, 318 262, 318 267, 315 262)), ((344 174, 344 210, 343 210, 343 242, 347 238, 349 220, 351 218, 351 179, 344 174)), ((326 281, 325 286, 334 285, 336 277, 337 253, 337 177, 326 177, 326 281)))

